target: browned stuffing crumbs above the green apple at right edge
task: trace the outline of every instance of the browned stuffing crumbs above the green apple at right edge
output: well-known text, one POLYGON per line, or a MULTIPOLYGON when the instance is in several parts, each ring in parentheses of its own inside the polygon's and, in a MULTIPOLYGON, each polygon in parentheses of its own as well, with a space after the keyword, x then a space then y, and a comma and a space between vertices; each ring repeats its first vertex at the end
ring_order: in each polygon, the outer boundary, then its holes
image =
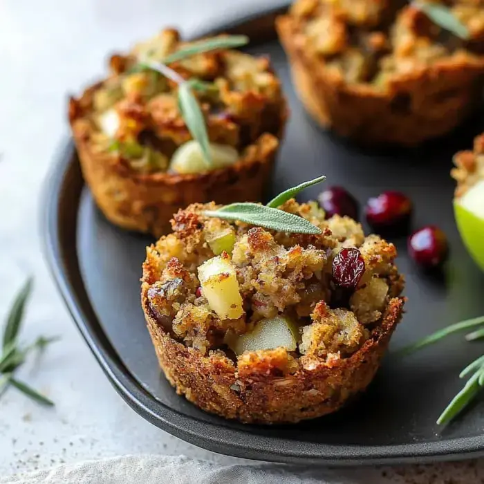
POLYGON ((474 139, 474 149, 454 156, 452 177, 457 181, 456 197, 460 198, 478 181, 484 180, 484 134, 474 139))

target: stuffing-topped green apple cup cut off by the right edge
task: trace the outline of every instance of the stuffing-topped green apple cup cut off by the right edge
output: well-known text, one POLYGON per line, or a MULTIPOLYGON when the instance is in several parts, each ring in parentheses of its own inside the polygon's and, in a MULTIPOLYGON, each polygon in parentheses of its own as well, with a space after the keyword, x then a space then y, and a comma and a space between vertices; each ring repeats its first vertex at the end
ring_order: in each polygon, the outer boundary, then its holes
POLYGON ((476 137, 472 151, 457 153, 454 163, 457 227, 469 254, 484 270, 484 135, 476 137))

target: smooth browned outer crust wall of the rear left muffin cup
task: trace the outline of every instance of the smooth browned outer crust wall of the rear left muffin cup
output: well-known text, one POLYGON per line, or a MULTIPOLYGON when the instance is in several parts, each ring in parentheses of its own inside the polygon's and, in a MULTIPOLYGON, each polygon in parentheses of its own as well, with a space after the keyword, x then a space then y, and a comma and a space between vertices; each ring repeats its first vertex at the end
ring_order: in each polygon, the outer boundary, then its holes
POLYGON ((82 174, 106 218, 127 230, 158 237, 180 207, 194 202, 259 201, 274 167, 279 141, 266 134, 234 165, 204 174, 137 174, 111 153, 96 152, 89 129, 73 128, 82 174))

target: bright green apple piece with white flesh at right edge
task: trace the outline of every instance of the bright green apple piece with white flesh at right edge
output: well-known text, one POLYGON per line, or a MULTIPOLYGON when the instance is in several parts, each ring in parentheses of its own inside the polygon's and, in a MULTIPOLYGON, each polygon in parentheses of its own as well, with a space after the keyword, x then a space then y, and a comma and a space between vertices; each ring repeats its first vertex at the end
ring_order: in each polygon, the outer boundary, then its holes
POLYGON ((484 270, 484 180, 454 200, 454 214, 469 254, 484 270))

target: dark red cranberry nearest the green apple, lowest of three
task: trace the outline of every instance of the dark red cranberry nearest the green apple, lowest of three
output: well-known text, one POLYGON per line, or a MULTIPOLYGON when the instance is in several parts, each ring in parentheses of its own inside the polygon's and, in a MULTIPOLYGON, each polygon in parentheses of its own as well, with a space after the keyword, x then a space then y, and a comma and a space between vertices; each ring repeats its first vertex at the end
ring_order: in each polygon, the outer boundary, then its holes
POLYGON ((411 258, 425 268, 440 266, 447 256, 447 238, 434 225, 423 227, 409 236, 411 258))

